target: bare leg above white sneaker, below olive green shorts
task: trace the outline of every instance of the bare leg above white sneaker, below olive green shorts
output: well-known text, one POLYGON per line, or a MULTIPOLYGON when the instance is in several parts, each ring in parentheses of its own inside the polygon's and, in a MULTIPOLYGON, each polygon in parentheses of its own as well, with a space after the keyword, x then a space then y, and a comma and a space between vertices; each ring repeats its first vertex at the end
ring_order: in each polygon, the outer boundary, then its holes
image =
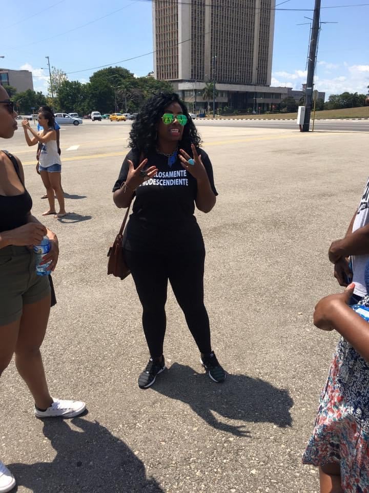
POLYGON ((39 349, 45 337, 49 313, 50 295, 36 303, 24 305, 15 347, 18 373, 26 382, 39 409, 47 409, 53 402, 39 349))

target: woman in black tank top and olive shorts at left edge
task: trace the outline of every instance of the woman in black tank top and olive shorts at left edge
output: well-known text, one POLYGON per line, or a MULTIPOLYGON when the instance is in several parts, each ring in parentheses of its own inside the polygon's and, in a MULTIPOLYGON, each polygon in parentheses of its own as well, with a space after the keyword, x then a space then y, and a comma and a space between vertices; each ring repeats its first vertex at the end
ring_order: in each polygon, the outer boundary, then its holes
MULTIPOLYGON (((17 128, 13 103, 0 85, 0 137, 10 139, 17 128)), ((58 260, 56 235, 31 214, 23 167, 7 151, 0 151, 0 375, 15 353, 16 368, 30 389, 38 418, 72 418, 85 403, 61 401, 50 396, 39 348, 50 312, 48 276, 37 276, 32 245, 45 235, 51 243, 45 263, 55 269, 58 260)), ((9 491, 15 480, 0 460, 0 491, 9 491)))

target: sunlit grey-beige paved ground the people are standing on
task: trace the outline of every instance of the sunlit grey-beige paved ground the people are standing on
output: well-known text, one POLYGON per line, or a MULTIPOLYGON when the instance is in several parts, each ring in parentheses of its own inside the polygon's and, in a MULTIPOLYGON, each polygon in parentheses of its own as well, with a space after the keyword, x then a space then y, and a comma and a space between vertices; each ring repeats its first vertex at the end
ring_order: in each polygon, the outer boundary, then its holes
MULTIPOLYGON (((88 414, 39 421, 14 364, 0 387, 0 457, 19 493, 317 493, 301 465, 337 334, 312 325, 315 302, 339 290, 327 259, 367 178, 367 134, 200 126, 219 192, 197 213, 207 246, 213 347, 229 372, 206 376, 169 295, 169 371, 142 391, 148 352, 131 278, 106 275, 122 211, 111 188, 129 122, 62 127, 66 218, 45 223, 60 241, 43 346, 51 393, 88 414), (68 150, 69 149, 69 150, 68 150)), ((23 130, 5 146, 25 165, 33 212, 46 210, 23 130)))

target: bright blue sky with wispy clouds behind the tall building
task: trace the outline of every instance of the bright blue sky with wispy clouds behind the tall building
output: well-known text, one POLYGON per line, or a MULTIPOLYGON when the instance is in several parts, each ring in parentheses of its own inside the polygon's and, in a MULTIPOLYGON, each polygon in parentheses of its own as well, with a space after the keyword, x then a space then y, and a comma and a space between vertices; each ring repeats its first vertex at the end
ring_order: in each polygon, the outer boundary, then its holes
MULTIPOLYGON (((189 0, 188 0, 189 1, 189 0)), ((277 0, 277 4, 283 0, 277 0)), ((369 2, 322 0, 316 87, 327 95, 366 93, 369 85, 369 2), (365 6, 354 6, 366 4, 365 6), (349 8, 329 8, 350 5, 349 8)), ((289 0, 277 10, 273 50, 272 85, 300 89, 306 82, 309 25, 314 0, 289 0)), ((278 9, 278 7, 277 7, 278 9)), ((26 68, 34 74, 34 87, 46 92, 50 63, 68 73, 70 80, 87 82, 101 65, 122 65, 138 76, 153 69, 152 6, 142 0, 17 0, 2 6, 0 60, 6 68, 26 68), (88 69, 88 70, 86 70, 88 69), (73 73, 74 72, 74 73, 73 73)))

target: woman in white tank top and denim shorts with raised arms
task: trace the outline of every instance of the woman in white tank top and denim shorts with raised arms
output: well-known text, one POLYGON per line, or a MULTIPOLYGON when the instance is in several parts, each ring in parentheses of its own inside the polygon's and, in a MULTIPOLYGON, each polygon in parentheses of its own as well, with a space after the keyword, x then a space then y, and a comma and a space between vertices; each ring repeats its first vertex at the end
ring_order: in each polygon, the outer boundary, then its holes
POLYGON ((60 173, 61 161, 56 145, 56 131, 54 129, 54 117, 50 111, 41 111, 38 113, 38 123, 43 127, 38 133, 30 127, 29 121, 22 122, 25 137, 28 145, 35 145, 40 142, 42 144, 39 156, 39 172, 42 181, 45 185, 48 200, 49 210, 44 212, 43 216, 54 214, 55 218, 65 216, 66 210, 64 205, 64 194, 61 188, 60 173), (31 132, 32 138, 28 132, 31 132), (55 199, 59 202, 59 212, 55 211, 55 199))

